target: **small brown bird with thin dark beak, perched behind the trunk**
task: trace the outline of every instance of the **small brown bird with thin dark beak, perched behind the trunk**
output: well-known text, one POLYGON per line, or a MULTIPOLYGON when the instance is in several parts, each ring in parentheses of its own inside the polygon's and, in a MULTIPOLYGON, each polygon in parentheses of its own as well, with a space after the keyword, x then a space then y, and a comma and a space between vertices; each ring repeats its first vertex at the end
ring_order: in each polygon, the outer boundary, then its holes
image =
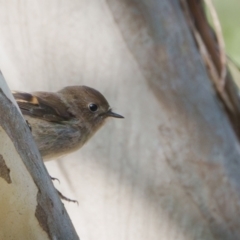
POLYGON ((105 97, 86 86, 54 92, 13 92, 44 161, 81 148, 112 112, 105 97))

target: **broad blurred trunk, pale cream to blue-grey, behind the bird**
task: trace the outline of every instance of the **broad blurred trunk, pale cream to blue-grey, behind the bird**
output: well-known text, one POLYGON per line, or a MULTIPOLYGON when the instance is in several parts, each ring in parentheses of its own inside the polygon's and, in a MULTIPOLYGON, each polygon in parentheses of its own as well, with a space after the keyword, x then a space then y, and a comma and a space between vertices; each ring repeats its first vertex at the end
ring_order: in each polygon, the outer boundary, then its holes
POLYGON ((237 131, 179 1, 0 3, 12 89, 89 85, 125 116, 47 163, 82 239, 240 239, 237 131))

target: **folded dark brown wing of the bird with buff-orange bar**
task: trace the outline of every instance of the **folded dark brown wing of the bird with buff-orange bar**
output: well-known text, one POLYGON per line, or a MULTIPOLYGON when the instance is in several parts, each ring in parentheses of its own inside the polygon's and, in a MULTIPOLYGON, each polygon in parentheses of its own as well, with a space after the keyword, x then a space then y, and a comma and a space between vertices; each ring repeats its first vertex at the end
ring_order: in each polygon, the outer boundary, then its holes
POLYGON ((41 118, 49 122, 62 122, 74 118, 57 93, 12 92, 23 115, 41 118))

